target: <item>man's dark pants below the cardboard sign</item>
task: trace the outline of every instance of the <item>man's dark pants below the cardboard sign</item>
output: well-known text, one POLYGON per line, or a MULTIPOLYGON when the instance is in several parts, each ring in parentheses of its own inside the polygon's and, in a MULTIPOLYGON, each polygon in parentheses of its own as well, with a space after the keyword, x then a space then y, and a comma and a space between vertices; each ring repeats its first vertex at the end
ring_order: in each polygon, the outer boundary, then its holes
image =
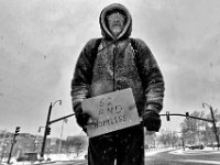
POLYGON ((144 165, 142 125, 89 139, 88 165, 144 165))

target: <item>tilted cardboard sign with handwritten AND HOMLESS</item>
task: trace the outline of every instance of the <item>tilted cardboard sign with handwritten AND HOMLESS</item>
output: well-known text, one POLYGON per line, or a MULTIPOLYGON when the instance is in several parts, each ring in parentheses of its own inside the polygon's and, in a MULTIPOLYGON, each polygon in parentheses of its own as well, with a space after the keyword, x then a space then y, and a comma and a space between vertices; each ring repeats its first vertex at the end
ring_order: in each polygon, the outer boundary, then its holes
POLYGON ((141 122, 131 88, 86 99, 81 106, 82 111, 96 120, 95 124, 87 127, 89 138, 141 122))

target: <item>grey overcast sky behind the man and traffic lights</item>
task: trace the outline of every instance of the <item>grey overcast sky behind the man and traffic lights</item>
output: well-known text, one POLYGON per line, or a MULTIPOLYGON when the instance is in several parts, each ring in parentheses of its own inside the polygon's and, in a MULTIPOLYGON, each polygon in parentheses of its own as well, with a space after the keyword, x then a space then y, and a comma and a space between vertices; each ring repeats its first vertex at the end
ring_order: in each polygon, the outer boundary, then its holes
MULTIPOLYGON (((165 79, 162 113, 209 112, 220 106, 220 1, 218 0, 0 0, 0 130, 43 134, 52 119, 73 113, 70 80, 82 46, 101 36, 99 14, 120 2, 131 12, 132 37, 150 46, 165 79)), ((163 118, 178 129, 183 118, 163 118)), ((59 136, 62 122, 52 125, 59 136)), ((75 118, 64 136, 80 133, 75 118)))

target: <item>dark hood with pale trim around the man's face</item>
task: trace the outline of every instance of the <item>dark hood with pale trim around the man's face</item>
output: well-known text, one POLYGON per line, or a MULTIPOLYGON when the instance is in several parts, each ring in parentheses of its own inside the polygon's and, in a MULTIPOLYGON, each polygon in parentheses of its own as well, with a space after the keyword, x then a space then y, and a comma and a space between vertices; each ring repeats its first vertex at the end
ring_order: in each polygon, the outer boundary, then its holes
POLYGON ((99 23, 100 23, 102 36, 108 40, 122 40, 122 38, 128 38, 131 35, 131 31, 132 31, 131 14, 130 14, 129 10, 120 3, 113 3, 113 4, 106 7, 100 13, 99 23), (107 19, 106 19, 107 15, 109 15, 109 13, 111 13, 112 11, 120 11, 127 18, 124 29, 118 35, 117 38, 109 31, 108 24, 107 24, 107 19))

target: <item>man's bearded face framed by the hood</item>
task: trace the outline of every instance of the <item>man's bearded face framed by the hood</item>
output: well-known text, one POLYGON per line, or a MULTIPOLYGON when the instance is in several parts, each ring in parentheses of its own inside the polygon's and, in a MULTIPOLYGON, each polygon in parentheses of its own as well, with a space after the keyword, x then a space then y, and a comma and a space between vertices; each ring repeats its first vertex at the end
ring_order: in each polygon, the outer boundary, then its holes
POLYGON ((124 28, 125 16, 119 12, 113 12, 107 19, 110 32, 118 36, 124 28))

